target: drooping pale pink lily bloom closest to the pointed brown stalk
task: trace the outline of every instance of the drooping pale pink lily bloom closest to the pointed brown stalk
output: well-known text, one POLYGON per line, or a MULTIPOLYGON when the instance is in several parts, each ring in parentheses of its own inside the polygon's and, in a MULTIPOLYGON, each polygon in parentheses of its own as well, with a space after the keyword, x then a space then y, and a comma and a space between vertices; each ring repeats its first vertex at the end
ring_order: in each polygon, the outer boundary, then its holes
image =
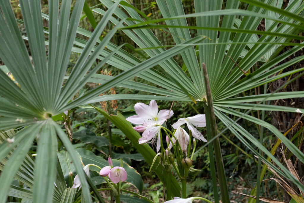
POLYGON ((193 137, 198 140, 202 140, 203 142, 207 142, 202 133, 196 129, 197 127, 206 127, 205 114, 198 114, 188 118, 180 118, 176 123, 172 124, 172 127, 174 129, 178 129, 178 127, 185 123, 187 124, 188 129, 191 130, 193 137))

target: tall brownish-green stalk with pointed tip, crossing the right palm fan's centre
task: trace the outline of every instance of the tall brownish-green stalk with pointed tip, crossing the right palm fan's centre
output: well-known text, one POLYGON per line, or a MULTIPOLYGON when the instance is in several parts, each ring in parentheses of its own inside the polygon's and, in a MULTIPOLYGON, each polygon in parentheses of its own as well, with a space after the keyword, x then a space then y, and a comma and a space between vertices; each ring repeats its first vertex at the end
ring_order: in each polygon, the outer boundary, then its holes
MULTIPOLYGON (((216 131, 216 120, 215 120, 215 115, 214 115, 214 110, 213 110, 213 104, 212 104, 212 97, 211 97, 211 89, 209 86, 209 78, 207 74, 207 69, 206 65, 202 63, 202 70, 203 70, 203 76, 204 76, 204 82, 205 82, 205 87, 206 87, 206 99, 207 99, 207 104, 205 105, 205 113, 206 113, 206 124, 207 124, 207 134, 209 134, 208 138, 215 137, 217 134, 216 131), (210 136, 211 134, 211 136, 210 136)), ((221 152, 221 147, 219 144, 219 138, 215 138, 212 141, 213 148, 214 148, 214 155, 215 155, 215 161, 216 161, 216 169, 217 169, 217 174, 218 174, 218 179, 219 179, 219 187, 221 191, 221 197, 222 197, 222 202, 230 202, 229 199, 229 192, 227 188, 227 183, 226 183, 226 176, 225 176, 225 170, 224 170, 224 163, 223 163, 223 157, 222 157, 222 152, 221 152)), ((209 149, 210 150, 210 149, 209 149)), ((213 153, 209 151, 209 156, 213 153)), ((211 157, 210 157, 211 160, 211 157)), ((214 191, 215 192, 215 191, 214 191)))

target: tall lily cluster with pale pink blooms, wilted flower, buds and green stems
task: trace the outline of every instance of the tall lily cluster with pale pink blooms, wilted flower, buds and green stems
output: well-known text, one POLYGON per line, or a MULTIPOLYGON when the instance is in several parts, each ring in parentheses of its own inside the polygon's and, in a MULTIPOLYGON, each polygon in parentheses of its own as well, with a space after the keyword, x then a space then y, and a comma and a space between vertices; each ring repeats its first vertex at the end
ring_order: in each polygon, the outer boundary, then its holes
MULTIPOLYGON (((164 171, 164 180, 167 184, 167 200, 171 200, 171 170, 174 168, 178 177, 181 180, 182 191, 181 198, 186 197, 186 178, 189 170, 195 170, 191 168, 192 158, 195 152, 196 139, 203 142, 207 142, 201 132, 197 130, 197 127, 206 127, 205 114, 198 114, 193 117, 180 118, 172 127, 173 132, 164 127, 164 122, 173 116, 172 110, 160 110, 158 112, 158 106, 155 100, 151 100, 150 104, 136 103, 134 106, 137 115, 126 118, 137 126, 134 130, 142 132, 142 138, 138 140, 139 144, 156 143, 157 155, 155 156, 152 166, 159 157, 160 163, 164 171), (189 129, 189 134, 181 128, 181 125, 186 124, 189 129), (163 132, 166 135, 167 146, 164 147, 163 132), (191 140, 193 137, 193 150, 191 158, 190 151, 192 149, 191 140), (171 149, 173 148, 173 153, 171 149), (176 160, 176 162, 175 162, 176 160)), ((151 168, 152 168, 151 166, 151 168)), ((150 170, 151 170, 150 168, 150 170)), ((165 198, 165 197, 164 197, 165 198)))

